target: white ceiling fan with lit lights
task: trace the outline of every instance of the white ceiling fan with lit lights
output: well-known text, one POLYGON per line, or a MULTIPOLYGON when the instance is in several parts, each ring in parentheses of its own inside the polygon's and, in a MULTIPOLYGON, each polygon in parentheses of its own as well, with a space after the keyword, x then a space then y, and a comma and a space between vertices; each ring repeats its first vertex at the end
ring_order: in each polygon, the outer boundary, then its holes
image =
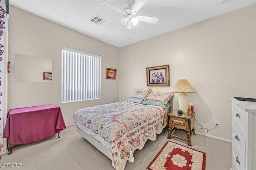
POLYGON ((120 20, 116 20, 112 23, 107 24, 106 26, 112 26, 119 22, 121 22, 122 25, 126 25, 126 29, 132 29, 132 25, 137 25, 138 21, 148 22, 148 23, 154 23, 156 24, 158 21, 158 18, 149 17, 149 16, 136 16, 136 13, 140 8, 147 2, 147 0, 127 0, 126 3, 128 4, 128 7, 124 8, 124 10, 121 10, 114 6, 113 4, 110 4, 108 1, 103 1, 101 4, 110 8, 111 10, 114 10, 120 14, 122 14, 124 17, 120 20))

